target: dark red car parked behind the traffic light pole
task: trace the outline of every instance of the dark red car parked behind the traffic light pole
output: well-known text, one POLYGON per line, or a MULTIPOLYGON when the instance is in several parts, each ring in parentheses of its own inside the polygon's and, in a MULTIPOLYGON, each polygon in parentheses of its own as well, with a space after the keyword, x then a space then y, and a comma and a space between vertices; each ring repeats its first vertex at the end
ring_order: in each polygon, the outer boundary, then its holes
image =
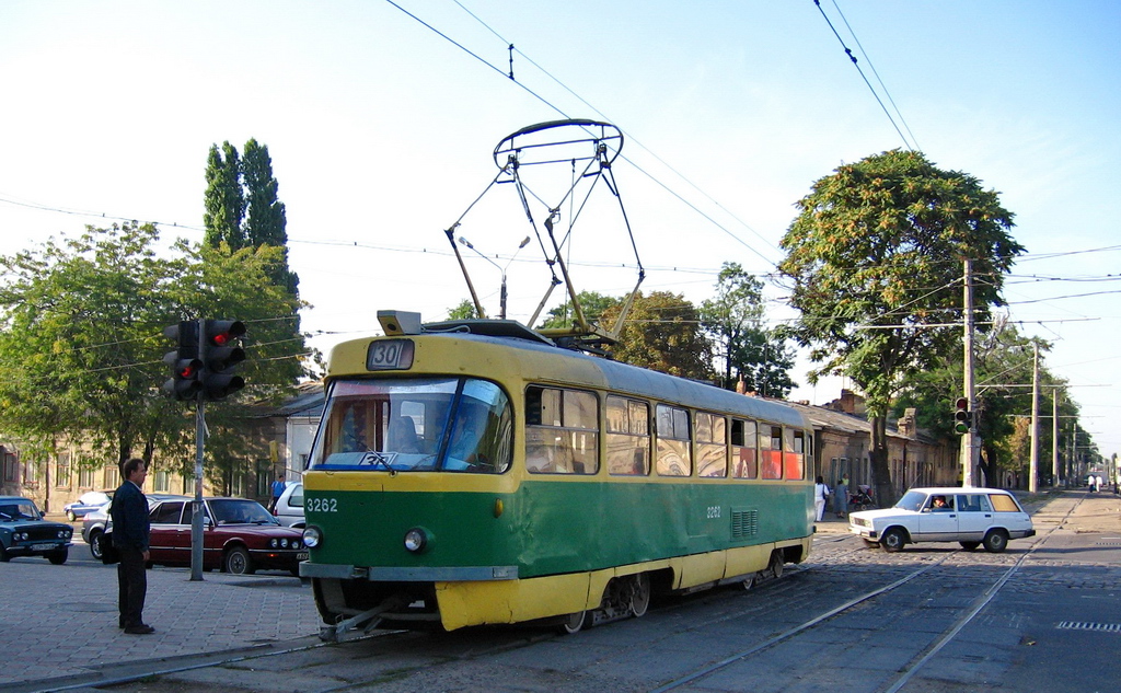
MULTIPOLYGON (((191 499, 152 506, 150 562, 191 565, 191 499)), ((284 570, 299 575, 307 560, 303 532, 281 525, 265 506, 245 498, 204 498, 203 569, 248 575, 257 570, 284 570)))

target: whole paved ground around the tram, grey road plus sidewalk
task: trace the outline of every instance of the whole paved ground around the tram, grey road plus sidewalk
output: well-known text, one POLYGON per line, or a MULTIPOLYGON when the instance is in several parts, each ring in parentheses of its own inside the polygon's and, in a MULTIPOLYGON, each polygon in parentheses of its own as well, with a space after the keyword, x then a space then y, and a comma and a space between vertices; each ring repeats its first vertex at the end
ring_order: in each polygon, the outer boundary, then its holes
POLYGON ((1121 498, 1030 500, 1039 534, 1004 554, 949 544, 886 554, 826 521, 810 560, 778 581, 666 600, 642 619, 567 637, 479 628, 325 646, 298 580, 207 573, 193 583, 182 569, 150 573, 146 618, 157 634, 126 636, 112 569, 20 558, 0 565, 2 632, 21 634, 8 641, 0 689, 1112 691, 1121 498))

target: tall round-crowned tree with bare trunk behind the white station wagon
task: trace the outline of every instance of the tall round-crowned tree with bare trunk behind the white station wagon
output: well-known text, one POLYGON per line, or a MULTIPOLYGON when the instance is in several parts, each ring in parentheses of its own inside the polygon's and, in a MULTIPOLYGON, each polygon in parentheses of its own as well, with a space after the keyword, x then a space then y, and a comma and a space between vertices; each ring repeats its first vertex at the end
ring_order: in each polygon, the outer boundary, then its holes
POLYGON ((889 500, 888 409, 904 375, 961 349, 953 323, 963 318, 963 260, 983 278, 974 285, 980 326, 1003 303, 1003 274, 1023 248, 994 191, 914 151, 841 166, 797 206, 779 265, 802 312, 790 334, 822 364, 812 382, 844 375, 863 390, 877 492, 889 500))

